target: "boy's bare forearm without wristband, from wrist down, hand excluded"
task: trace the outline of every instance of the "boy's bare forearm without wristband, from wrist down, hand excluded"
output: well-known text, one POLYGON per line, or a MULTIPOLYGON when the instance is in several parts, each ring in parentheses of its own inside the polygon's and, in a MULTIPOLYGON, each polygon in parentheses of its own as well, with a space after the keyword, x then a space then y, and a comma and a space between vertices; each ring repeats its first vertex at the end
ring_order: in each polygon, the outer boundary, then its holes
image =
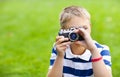
POLYGON ((62 77, 64 57, 57 56, 52 69, 49 70, 47 77, 62 77))

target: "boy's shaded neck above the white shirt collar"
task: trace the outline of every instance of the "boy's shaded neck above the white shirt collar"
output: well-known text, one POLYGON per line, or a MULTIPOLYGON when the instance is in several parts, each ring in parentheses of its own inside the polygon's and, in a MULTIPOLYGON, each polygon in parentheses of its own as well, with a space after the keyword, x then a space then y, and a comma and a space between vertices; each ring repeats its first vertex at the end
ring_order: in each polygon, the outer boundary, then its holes
POLYGON ((82 55, 86 50, 85 47, 80 46, 80 45, 78 46, 75 44, 72 44, 70 47, 71 47, 71 52, 75 55, 82 55))

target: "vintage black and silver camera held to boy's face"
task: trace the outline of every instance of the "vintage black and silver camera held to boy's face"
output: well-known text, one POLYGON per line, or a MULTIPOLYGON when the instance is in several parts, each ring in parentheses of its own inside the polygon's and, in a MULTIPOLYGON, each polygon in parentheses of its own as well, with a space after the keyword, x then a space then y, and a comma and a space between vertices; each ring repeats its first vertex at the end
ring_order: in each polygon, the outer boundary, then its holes
POLYGON ((74 32, 75 28, 71 29, 61 29, 58 33, 59 36, 64 36, 65 38, 69 38, 69 41, 74 42, 74 41, 82 41, 84 38, 79 35, 78 33, 74 32))

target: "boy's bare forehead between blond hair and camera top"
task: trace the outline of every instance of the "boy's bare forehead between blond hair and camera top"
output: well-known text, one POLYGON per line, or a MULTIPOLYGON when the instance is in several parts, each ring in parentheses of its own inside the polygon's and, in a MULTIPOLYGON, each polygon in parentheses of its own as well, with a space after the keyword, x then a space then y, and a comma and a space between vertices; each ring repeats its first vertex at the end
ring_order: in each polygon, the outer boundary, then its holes
POLYGON ((64 26, 65 28, 83 27, 83 26, 87 27, 87 26, 90 26, 90 22, 88 19, 85 19, 85 18, 73 17, 64 26))

